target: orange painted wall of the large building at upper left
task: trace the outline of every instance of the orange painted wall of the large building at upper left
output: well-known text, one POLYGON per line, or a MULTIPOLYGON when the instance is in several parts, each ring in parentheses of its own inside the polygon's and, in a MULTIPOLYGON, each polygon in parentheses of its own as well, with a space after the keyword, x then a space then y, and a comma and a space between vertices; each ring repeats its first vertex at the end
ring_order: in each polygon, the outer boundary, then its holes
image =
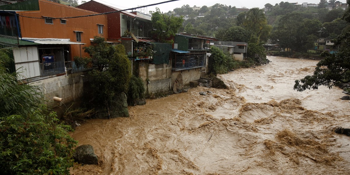
MULTIPOLYGON (((42 18, 43 16, 60 18, 70 16, 82 16, 97 14, 88 10, 83 10, 75 7, 65 6, 59 3, 54 3, 46 0, 39 0, 40 11, 23 11, 17 12, 23 16, 42 18)), ((71 44, 71 59, 73 56, 89 56, 82 49, 91 45, 90 38, 93 36, 102 36, 107 38, 107 17, 106 15, 96 15, 81 18, 68 18, 66 24, 61 24, 60 19, 53 19, 53 24, 46 24, 45 19, 34 19, 19 17, 22 37, 27 38, 64 38, 70 39, 72 42, 77 42, 76 33, 74 31, 83 31, 82 43, 71 44), (97 24, 104 25, 103 34, 98 34, 97 24)))

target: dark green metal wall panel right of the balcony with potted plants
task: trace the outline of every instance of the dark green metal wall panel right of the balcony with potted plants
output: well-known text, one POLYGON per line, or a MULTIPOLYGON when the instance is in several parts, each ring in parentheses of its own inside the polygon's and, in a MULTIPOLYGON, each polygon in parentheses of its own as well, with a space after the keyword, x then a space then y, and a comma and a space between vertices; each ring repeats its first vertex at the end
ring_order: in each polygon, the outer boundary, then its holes
POLYGON ((172 44, 168 43, 152 43, 153 50, 156 51, 153 55, 154 64, 169 64, 170 51, 172 50, 172 44))

